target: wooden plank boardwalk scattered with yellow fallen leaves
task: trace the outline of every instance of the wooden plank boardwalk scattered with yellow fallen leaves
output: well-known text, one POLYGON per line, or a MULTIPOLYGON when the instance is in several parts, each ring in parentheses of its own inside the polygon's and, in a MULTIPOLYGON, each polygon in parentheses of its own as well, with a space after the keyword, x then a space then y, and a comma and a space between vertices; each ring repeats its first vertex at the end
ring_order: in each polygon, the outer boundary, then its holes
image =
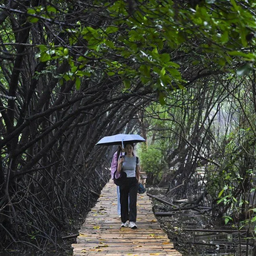
POLYGON ((138 194, 138 229, 120 228, 120 225, 116 214, 116 185, 111 180, 79 230, 76 243, 72 244, 73 256, 182 256, 160 229, 146 194, 138 194))

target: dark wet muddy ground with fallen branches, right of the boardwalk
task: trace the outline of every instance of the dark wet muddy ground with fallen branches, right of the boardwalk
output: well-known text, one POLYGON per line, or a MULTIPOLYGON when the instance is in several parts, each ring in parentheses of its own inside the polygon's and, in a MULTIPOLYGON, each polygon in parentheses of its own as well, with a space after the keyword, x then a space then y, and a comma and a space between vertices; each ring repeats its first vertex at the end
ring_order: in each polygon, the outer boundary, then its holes
MULTIPOLYGON (((147 192, 166 200, 164 191, 148 188, 147 192)), ((254 241, 246 239, 246 229, 241 227, 237 231, 232 224, 225 225, 223 220, 217 220, 212 216, 209 205, 186 209, 190 206, 188 200, 174 200, 173 205, 185 210, 173 211, 174 206, 161 203, 154 197, 152 199, 157 220, 183 256, 255 256, 252 252, 254 241), (170 216, 160 217, 166 212, 170 216)))

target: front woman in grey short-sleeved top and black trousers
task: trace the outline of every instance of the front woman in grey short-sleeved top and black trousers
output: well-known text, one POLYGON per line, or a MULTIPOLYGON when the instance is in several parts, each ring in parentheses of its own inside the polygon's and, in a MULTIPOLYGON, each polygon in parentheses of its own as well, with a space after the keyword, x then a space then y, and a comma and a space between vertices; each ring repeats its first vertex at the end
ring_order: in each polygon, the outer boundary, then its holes
POLYGON ((140 161, 134 156, 134 144, 125 143, 125 155, 119 157, 117 171, 124 171, 125 180, 120 189, 121 227, 137 229, 137 191, 140 178, 140 161))

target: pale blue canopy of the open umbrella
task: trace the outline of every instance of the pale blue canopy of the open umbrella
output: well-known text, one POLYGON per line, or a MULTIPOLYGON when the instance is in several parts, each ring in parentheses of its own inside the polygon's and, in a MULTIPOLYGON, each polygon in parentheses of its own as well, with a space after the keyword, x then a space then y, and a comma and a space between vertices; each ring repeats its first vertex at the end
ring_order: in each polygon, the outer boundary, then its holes
POLYGON ((111 136, 105 136, 96 145, 119 145, 124 142, 144 142, 145 139, 138 134, 115 134, 111 136))

